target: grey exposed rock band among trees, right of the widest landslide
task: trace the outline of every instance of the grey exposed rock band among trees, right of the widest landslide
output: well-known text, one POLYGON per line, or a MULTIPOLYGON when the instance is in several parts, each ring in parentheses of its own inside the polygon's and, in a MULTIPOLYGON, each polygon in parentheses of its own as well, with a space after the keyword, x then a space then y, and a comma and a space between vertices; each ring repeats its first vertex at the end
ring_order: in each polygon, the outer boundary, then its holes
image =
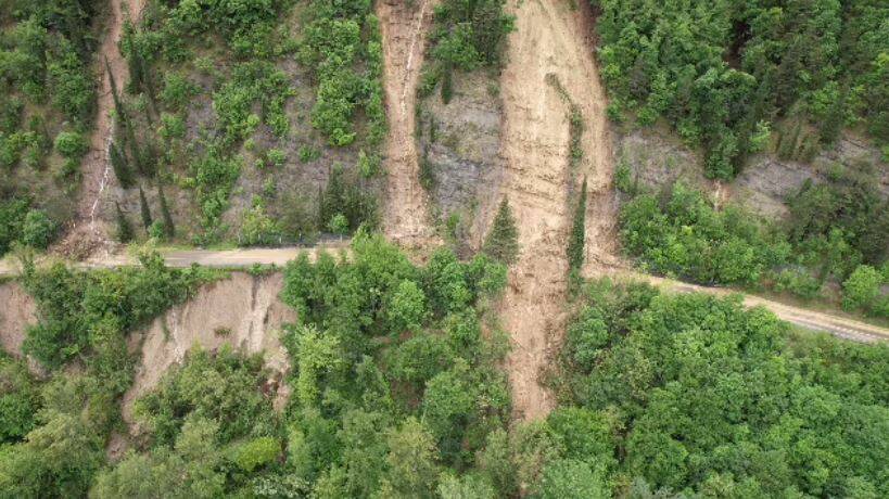
MULTIPOLYGON (((677 179, 714 192, 714 182, 703 177, 700 154, 680 143, 669 132, 637 129, 617 137, 620 162, 630 167, 642 185, 659 188, 677 179)), ((732 201, 766 217, 787 214, 785 201, 807 180, 826 181, 837 166, 853 168, 868 163, 877 168, 884 196, 889 196, 889 165, 876 149, 851 137, 841 138, 830 149, 818 153, 812 163, 780 161, 773 154, 751 157, 738 177, 727 185, 732 201)))

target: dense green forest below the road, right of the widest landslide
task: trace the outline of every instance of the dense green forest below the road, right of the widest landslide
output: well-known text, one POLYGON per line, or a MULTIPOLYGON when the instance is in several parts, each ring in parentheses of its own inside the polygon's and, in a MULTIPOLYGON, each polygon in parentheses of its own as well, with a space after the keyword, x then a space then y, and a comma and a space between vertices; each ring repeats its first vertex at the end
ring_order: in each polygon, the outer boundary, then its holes
POLYGON ((573 471, 560 497, 889 494, 886 346, 640 284, 594 283, 581 305, 547 420, 573 471))

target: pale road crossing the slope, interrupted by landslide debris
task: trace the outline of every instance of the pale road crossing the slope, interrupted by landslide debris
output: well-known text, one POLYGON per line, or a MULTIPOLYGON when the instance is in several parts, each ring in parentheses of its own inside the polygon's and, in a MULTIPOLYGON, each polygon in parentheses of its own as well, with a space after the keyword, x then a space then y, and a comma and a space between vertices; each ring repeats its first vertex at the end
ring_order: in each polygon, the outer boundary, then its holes
MULTIPOLYGON (((313 248, 282 247, 282 248, 255 248, 255 250, 162 250, 167 265, 170 267, 190 267, 198 264, 205 267, 250 267, 255 264, 283 266, 295 258, 300 253, 308 252, 314 257, 320 251, 339 252, 346 247, 347 242, 339 244, 326 244, 325 246, 313 248)), ((98 260, 90 260, 80 264, 87 268, 112 268, 126 265, 135 265, 136 259, 126 254, 112 255, 98 260)), ((0 261, 0 277, 14 276, 17 272, 12 261, 0 261)), ((647 276, 633 271, 617 270, 614 277, 619 279, 634 279, 648 281, 651 284, 680 293, 710 293, 719 296, 732 294, 732 290, 722 287, 707 287, 685 282, 672 281, 669 279, 647 276)), ((762 306, 775 314, 779 319, 796 325, 812 330, 825 331, 835 336, 856 342, 874 343, 889 341, 889 329, 868 324, 865 322, 848 319, 846 317, 833 316, 825 312, 808 310, 800 307, 785 305, 771 299, 753 295, 744 295, 744 304, 748 307, 762 306)))

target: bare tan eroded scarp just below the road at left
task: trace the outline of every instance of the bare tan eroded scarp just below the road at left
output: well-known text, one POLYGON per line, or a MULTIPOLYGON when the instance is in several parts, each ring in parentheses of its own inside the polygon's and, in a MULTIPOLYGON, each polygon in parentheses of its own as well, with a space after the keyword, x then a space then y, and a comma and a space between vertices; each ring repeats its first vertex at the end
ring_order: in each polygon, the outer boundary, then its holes
POLYGON ((256 277, 238 272, 202 287, 194 298, 135 334, 132 346, 141 349, 141 360, 136 381, 124 396, 125 421, 132 422, 136 399, 194 346, 216 350, 230 345, 245 354, 264 353, 266 366, 275 373, 270 384, 276 385, 276 405, 283 404, 287 388, 281 379, 290 363, 279 333, 281 325, 294 322, 296 316, 278 298, 282 286, 281 273, 256 277))

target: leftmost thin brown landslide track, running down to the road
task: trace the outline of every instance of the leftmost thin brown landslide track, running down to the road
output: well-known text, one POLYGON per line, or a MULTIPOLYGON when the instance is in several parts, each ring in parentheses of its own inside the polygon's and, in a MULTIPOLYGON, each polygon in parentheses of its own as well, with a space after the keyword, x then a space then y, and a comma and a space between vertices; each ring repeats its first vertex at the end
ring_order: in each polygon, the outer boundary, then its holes
POLYGON ((116 181, 111 171, 109 149, 114 136, 114 97, 107 68, 114 76, 118 91, 123 91, 129 79, 127 61, 117 47, 127 18, 135 20, 142 12, 144 0, 112 0, 109 25, 94 61, 97 73, 101 73, 98 89, 96 126, 90 136, 90 151, 80 164, 82 175, 77 217, 65 240, 56 251, 65 255, 82 258, 106 246, 107 227, 98 216, 102 196, 111 182, 116 181), (126 12, 125 12, 126 11, 126 12), (107 66, 105 60, 107 59, 107 66))

